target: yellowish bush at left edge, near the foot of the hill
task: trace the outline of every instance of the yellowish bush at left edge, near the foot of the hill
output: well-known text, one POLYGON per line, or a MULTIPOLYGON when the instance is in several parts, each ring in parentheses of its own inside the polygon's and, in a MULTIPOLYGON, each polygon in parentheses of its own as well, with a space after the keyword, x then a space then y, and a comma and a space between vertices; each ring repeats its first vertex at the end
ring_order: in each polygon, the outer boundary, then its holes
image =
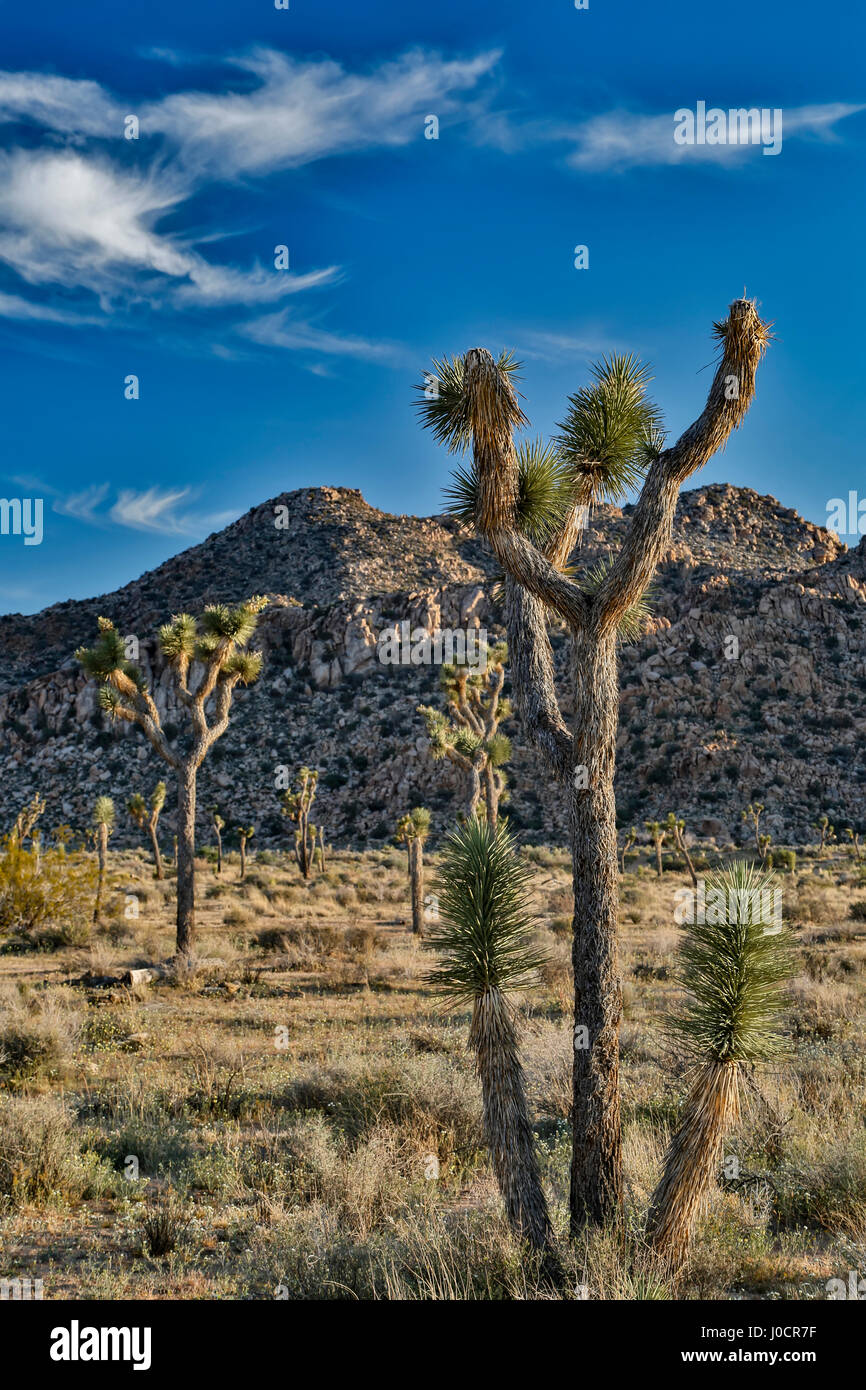
POLYGON ((0 937, 15 933, 50 948, 83 945, 89 937, 96 866, 64 845, 38 853, 7 837, 0 848, 0 937))

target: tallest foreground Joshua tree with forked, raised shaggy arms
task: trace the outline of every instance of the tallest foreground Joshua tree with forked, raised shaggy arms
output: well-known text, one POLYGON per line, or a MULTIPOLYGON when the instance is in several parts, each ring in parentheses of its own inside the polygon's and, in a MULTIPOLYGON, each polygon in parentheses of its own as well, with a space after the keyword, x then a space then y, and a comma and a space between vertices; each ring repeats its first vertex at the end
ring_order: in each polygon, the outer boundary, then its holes
POLYGON ((634 612, 670 542, 683 484, 724 445, 746 414, 769 328, 746 299, 716 324, 720 360, 699 418, 663 446, 649 375, 613 357, 569 400, 555 446, 514 446, 525 425, 516 363, 482 348, 434 364, 435 389, 420 411, 439 442, 471 449, 457 474, 457 505, 487 538, 506 574, 512 687, 527 737, 564 788, 574 874, 574 1106, 571 1223, 602 1222, 621 1205, 617 967, 617 852, 613 774, 620 624, 634 612), (563 573, 601 499, 620 500, 642 481, 619 552, 584 578, 563 573), (571 635, 573 727, 553 681, 546 613, 571 635), (584 1040, 588 1045, 584 1047, 584 1040))

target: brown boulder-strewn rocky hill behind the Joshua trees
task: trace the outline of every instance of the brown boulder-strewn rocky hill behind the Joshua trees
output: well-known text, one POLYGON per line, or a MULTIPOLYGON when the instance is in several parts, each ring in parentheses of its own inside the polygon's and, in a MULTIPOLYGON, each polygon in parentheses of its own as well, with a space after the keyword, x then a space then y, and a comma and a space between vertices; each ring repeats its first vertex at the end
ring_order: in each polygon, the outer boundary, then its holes
MULTIPOLYGON (((580 562, 616 549, 628 510, 601 507, 580 562)), ((110 727, 72 659, 106 614, 140 645, 163 720, 182 716, 153 641, 182 609, 263 592, 261 681, 236 695, 231 727, 200 774, 202 831, 220 806, 286 840, 275 774, 321 769, 316 819, 336 844, 392 833, 424 802, 442 826, 460 788, 434 764, 416 706, 435 702, 432 666, 386 666, 395 623, 499 630, 496 564, 446 517, 391 516, 348 488, 284 493, 114 594, 0 617, 0 824, 39 790, 46 824, 88 823, 95 795, 118 809, 165 769, 140 731, 110 727)), ((866 539, 848 550, 776 499, 713 485, 681 496, 653 594, 655 631, 621 655, 617 803, 638 824, 676 809, 720 841, 742 834, 749 799, 777 840, 810 838, 815 817, 863 820, 866 785, 866 539)), ((553 631, 564 671, 567 637, 553 631)), ((563 681, 563 691, 566 682, 563 681)), ((569 712, 567 699, 563 708, 569 712)), ((564 841, 564 813, 516 727, 513 823, 564 841)), ((182 737, 182 734, 178 734, 182 737)), ((172 788, 164 826, 172 830, 172 788)), ((118 842, 135 833, 120 817, 118 842)))

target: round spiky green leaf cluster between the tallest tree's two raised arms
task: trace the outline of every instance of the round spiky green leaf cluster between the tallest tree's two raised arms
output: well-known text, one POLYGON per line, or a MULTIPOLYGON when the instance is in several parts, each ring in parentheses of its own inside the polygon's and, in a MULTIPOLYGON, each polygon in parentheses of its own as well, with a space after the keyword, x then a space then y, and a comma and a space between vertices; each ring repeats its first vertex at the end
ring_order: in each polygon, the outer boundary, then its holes
POLYGON ((587 502, 621 502, 663 443, 662 417, 646 395, 649 368, 632 353, 603 357, 594 381, 569 396, 556 445, 587 502))

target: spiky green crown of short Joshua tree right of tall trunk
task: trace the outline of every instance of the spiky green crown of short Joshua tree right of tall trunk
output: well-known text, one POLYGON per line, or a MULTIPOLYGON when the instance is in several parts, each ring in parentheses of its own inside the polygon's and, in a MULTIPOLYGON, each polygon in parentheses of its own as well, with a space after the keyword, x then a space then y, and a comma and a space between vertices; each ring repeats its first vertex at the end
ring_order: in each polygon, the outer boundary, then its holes
POLYGON ((792 937, 762 910, 774 887, 773 873, 737 860, 706 880, 706 917, 713 920, 684 927, 677 976, 688 999, 669 1027, 701 1061, 759 1062, 780 1051, 792 937), (721 910, 713 908, 719 892, 721 910))

